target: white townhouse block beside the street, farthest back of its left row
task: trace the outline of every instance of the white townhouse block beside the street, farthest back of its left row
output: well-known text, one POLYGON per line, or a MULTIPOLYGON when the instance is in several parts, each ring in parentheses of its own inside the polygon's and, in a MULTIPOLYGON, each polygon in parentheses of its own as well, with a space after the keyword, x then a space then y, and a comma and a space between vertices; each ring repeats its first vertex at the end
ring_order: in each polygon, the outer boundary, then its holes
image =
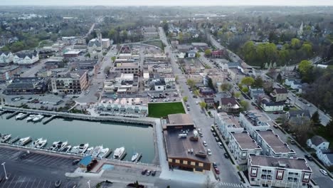
POLYGON ((220 130, 222 137, 228 141, 229 132, 243 132, 244 128, 240 127, 238 120, 227 113, 218 113, 216 117, 216 124, 220 130))

